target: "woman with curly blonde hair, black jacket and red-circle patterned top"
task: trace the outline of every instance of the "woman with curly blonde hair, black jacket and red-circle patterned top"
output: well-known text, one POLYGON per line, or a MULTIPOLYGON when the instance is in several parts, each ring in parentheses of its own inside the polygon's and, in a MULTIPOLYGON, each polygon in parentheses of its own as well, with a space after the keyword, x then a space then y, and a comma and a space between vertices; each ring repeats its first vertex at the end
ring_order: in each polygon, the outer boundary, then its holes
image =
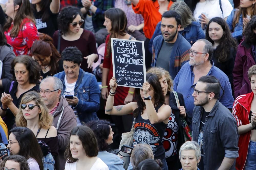
POLYGON ((185 117, 185 120, 189 122, 189 117, 186 116, 183 95, 177 93, 180 104, 180 106, 177 107, 175 96, 172 90, 173 80, 171 79, 169 72, 161 67, 151 67, 148 69, 147 73, 157 75, 163 90, 163 94, 165 96, 165 104, 169 105, 172 109, 167 128, 165 129, 165 135, 162 138, 162 142, 165 149, 165 159, 168 167, 172 167, 173 169, 180 169, 181 164, 179 161, 178 153, 180 146, 185 142, 182 126, 183 122, 181 117, 185 117))

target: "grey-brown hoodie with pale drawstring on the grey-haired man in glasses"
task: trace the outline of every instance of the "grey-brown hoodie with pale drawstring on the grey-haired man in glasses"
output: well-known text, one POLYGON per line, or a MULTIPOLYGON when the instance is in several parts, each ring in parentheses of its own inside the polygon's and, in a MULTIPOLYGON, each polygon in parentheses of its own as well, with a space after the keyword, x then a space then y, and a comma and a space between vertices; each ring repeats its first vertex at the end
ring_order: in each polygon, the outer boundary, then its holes
POLYGON ((70 132, 74 127, 77 126, 74 111, 68 105, 66 99, 64 99, 62 96, 60 97, 58 108, 53 113, 53 126, 57 129, 59 142, 59 154, 55 160, 55 168, 62 170, 64 169, 66 163, 64 152, 69 143, 70 132))

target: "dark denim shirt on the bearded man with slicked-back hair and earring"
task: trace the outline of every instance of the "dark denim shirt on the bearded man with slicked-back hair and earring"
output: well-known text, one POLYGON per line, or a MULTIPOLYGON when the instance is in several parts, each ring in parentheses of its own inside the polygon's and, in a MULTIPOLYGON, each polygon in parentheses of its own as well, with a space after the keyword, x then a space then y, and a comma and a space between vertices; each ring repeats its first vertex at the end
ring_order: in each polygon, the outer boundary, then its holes
MULTIPOLYGON (((192 138, 196 142, 198 141, 202 111, 202 106, 195 106, 193 110, 192 138)), ((204 153, 201 153, 204 155, 204 161, 200 162, 204 164, 205 170, 218 169, 224 157, 230 159, 238 157, 237 133, 237 123, 232 113, 217 100, 205 118, 202 145, 204 153)), ((235 169, 235 163, 230 169, 235 169)))

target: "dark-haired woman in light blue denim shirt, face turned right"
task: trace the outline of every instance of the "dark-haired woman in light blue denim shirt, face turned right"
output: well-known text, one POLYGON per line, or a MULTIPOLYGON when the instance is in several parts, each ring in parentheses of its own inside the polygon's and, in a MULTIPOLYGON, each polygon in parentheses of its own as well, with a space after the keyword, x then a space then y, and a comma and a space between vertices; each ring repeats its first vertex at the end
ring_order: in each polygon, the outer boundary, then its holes
POLYGON ((121 160, 117 155, 107 151, 109 145, 113 143, 114 135, 114 132, 110 126, 110 122, 106 120, 93 120, 86 123, 86 125, 92 129, 95 137, 97 138, 99 146, 99 153, 97 157, 100 158, 109 167, 109 170, 124 170, 124 161, 121 160))

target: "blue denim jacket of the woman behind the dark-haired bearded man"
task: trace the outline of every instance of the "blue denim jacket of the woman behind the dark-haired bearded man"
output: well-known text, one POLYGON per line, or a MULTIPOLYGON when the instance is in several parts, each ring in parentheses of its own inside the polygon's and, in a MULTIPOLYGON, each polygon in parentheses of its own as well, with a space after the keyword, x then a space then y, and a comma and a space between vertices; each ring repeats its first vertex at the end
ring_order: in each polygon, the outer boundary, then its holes
MULTIPOLYGON (((201 28, 201 24, 197 23, 196 21, 192 21, 190 25, 188 25, 184 30, 179 31, 180 34, 191 44, 191 46, 199 39, 205 38, 205 33, 201 28)), ((162 35, 161 33, 161 21, 158 22, 156 25, 155 32, 150 39, 150 42, 148 43, 148 50, 153 53, 152 51, 152 45, 153 40, 158 35, 162 35)))

